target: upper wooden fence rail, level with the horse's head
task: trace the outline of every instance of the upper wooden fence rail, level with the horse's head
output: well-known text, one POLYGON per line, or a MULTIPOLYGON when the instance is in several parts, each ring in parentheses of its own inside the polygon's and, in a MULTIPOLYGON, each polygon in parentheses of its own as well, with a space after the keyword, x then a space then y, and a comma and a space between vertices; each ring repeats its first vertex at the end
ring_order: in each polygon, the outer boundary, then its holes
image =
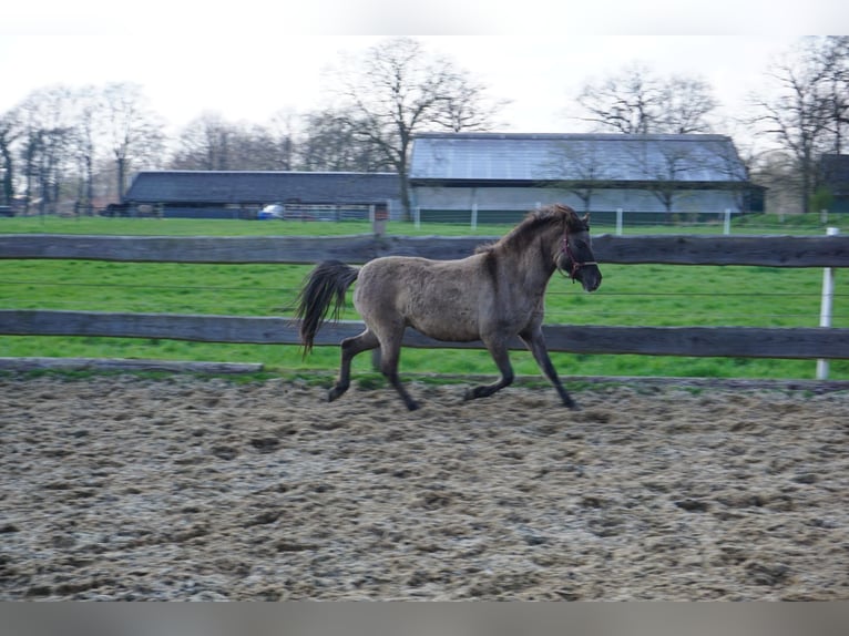
MULTIPOLYGON (((72 258, 137 263, 288 263, 379 256, 463 258, 498 237, 386 236, 88 236, 0 235, 0 258, 72 258)), ((593 238, 602 263, 849 267, 849 236, 648 235, 593 238)))

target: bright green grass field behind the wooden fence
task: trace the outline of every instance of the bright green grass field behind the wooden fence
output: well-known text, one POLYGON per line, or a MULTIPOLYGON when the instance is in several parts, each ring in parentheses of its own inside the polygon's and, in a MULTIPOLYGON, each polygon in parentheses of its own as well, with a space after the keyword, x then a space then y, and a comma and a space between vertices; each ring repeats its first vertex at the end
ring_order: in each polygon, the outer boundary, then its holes
MULTIPOLYGON (((507 226, 481 226, 479 235, 507 226)), ((819 233, 811 219, 805 233, 819 233)), ((0 233, 119 235, 361 234, 367 223, 280 223, 183 219, 0 219, 0 233)), ((416 234, 391 223, 393 234, 416 234)), ((595 228, 594 228, 595 232, 595 228)), ((678 229, 681 233, 682 230, 678 229)), ((418 234, 462 235, 462 226, 423 226, 418 234)), ((652 232, 654 233, 654 232, 652 232)), ((801 229, 797 233, 801 233, 801 229)), ((789 232, 787 232, 789 234, 789 232)), ((309 270, 291 265, 124 264, 80 260, 0 260, 0 307, 162 314, 286 316, 309 270)), ((815 327, 821 269, 606 265, 595 294, 555 275, 546 296, 549 324, 634 326, 815 327)), ((838 273, 835 327, 849 327, 849 286, 838 273)), ((345 318, 356 319, 349 310, 345 318)), ((335 370, 338 349, 318 348, 303 360, 296 347, 214 345, 115 338, 0 337, 0 356, 61 356, 263 362, 277 372, 335 370)), ((536 375, 526 352, 514 352, 521 375, 536 375)), ((555 353, 562 375, 812 378, 814 361, 555 353)), ((355 370, 370 370, 360 356, 355 370)), ((494 373, 484 351, 407 349, 406 372, 494 373)), ((831 378, 849 379, 849 362, 832 361, 831 378)))

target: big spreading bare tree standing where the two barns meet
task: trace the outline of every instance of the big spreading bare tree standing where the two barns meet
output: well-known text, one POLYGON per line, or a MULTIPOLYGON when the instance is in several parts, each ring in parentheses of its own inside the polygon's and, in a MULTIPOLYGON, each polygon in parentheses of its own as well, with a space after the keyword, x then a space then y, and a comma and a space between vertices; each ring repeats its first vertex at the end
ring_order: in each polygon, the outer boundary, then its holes
POLYGON ((372 146, 398 173, 405 216, 410 216, 408 161, 416 132, 487 130, 501 103, 444 58, 410 38, 387 40, 335 78, 337 124, 372 146))

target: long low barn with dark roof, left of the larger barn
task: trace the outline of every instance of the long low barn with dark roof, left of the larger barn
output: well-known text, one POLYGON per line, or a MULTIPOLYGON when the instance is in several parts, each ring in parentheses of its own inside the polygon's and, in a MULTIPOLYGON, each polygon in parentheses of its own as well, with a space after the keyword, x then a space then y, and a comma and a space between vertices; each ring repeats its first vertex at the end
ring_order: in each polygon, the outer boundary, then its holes
POLYGON ((351 172, 140 172, 124 202, 165 217, 257 218, 278 204, 283 218, 368 218, 377 209, 400 215, 398 175, 351 172))

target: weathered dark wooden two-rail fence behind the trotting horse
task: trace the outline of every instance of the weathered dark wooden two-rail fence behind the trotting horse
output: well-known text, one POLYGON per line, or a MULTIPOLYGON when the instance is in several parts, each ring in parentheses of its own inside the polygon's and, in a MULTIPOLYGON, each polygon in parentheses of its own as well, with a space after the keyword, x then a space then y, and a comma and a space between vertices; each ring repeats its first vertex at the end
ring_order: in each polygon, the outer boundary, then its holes
MULTIPOLYGON (((494 238, 494 237, 492 237, 494 238)), ((115 237, 0 235, 0 258, 172 263, 313 264, 327 258, 365 263, 387 255, 461 258, 487 237, 115 237)), ((849 236, 610 236, 593 239, 596 258, 612 264, 849 267, 849 236)), ((338 345, 359 321, 327 325, 316 345, 338 345)), ((112 336, 212 342, 297 345, 286 318, 0 310, 0 334, 112 336)), ((751 327, 545 327, 552 351, 849 359, 849 329, 751 327)), ((408 329, 405 346, 482 348, 440 342, 408 329)), ((515 339, 513 348, 523 345, 515 339)))

